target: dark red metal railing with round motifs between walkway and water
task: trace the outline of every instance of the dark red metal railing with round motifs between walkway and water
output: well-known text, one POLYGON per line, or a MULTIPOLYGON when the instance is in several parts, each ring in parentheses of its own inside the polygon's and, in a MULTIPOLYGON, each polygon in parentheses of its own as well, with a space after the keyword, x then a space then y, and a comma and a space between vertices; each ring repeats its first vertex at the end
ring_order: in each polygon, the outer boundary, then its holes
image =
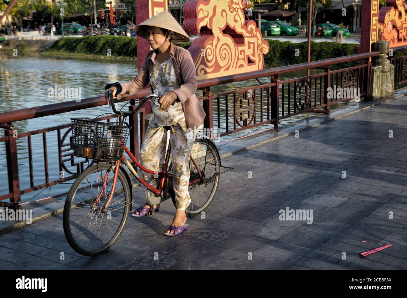
MULTIPOLYGON (((300 113, 329 113, 331 104, 348 100, 348 98, 330 98, 327 91, 328 87, 360 88, 361 96, 369 94, 372 67, 370 59, 379 56, 379 54, 379 51, 354 54, 309 63, 275 67, 251 73, 200 80, 197 88, 202 90, 202 96, 198 99, 202 101, 206 112, 204 128, 208 128, 209 130, 214 128, 214 119, 216 119, 217 128, 220 132, 218 135, 224 136, 263 124, 273 124, 274 129, 278 129, 279 120, 300 113), (330 65, 354 60, 359 60, 360 65, 339 70, 330 69, 330 65), (278 78, 279 74, 311 68, 322 69, 323 72, 282 81, 278 78), (267 77, 267 80, 269 78, 270 81, 263 83, 262 80, 264 79, 262 78, 265 77, 267 77), (251 88, 231 90, 218 94, 213 94, 210 90, 210 87, 216 85, 249 79, 255 79, 258 84, 251 88), (222 101, 225 103, 224 111, 221 111, 222 101), (214 104, 216 104, 215 107, 214 104)), ((403 71, 405 71, 404 68, 403 71)), ((123 97, 120 102, 130 100, 129 110, 133 110, 136 108, 136 100, 144 98, 144 96, 150 93, 151 89, 143 89, 136 94, 123 97)), ((0 202, 6 199, 11 200, 11 203, 3 202, 3 206, 18 207, 21 195, 72 180, 76 178, 86 166, 92 163, 92 161, 86 159, 81 162, 74 160, 72 139, 70 137, 71 124, 13 135, 13 123, 98 107, 105 104, 105 97, 100 96, 85 98, 81 100, 81 102, 69 101, 0 113, 0 128, 4 128, 4 137, 0 138, 0 142, 5 142, 9 183, 9 192, 0 194, 0 202), (49 139, 47 139, 47 134, 54 131, 57 132, 59 170, 68 173, 69 176, 50 181, 47 154, 47 141, 49 142, 49 139), (39 184, 34 183, 34 172, 37 169, 33 168, 33 157, 31 154, 31 138, 33 135, 42 135, 44 151, 43 170, 45 172, 45 179, 39 184), (24 138, 26 138, 26 148, 29 155, 30 187, 20 189, 17 140, 19 139, 21 142, 24 138), (69 167, 74 167, 75 170, 69 167)), ((114 116, 107 116, 99 118, 98 120, 109 121, 112 117, 114 116)), ((136 115, 129 117, 129 124, 133 128, 129 138, 130 149, 137 158, 139 158, 140 144, 144 139, 144 117, 144 109, 140 109, 136 115)))

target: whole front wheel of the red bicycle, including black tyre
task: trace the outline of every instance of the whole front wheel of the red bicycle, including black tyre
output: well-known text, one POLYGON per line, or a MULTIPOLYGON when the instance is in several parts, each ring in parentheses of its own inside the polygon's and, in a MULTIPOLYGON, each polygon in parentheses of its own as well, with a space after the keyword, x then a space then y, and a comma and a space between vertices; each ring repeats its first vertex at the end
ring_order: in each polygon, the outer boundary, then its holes
POLYGON ((75 180, 66 198, 63 231, 70 246, 85 256, 108 250, 123 233, 129 216, 130 189, 120 170, 112 200, 103 210, 112 193, 114 172, 110 170, 111 166, 97 163, 88 167, 75 180), (101 198, 96 202, 101 192, 101 198))

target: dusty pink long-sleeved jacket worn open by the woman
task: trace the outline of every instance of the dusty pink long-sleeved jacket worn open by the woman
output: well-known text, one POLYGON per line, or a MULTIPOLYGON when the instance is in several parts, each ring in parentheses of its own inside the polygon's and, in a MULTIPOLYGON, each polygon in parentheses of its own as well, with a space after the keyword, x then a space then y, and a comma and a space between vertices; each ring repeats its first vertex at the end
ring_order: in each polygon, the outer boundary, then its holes
MULTIPOLYGON (((120 83, 122 91, 116 96, 117 99, 136 93, 150 82, 154 69, 155 55, 155 50, 150 50, 137 76, 127 83, 120 83)), ((194 61, 188 50, 175 46, 172 42, 170 43, 170 55, 173 57, 175 74, 180 85, 174 92, 182 103, 186 127, 191 129, 198 128, 204 122, 206 113, 195 95, 198 81, 194 61)), ((152 87, 151 92, 153 92, 152 87)))

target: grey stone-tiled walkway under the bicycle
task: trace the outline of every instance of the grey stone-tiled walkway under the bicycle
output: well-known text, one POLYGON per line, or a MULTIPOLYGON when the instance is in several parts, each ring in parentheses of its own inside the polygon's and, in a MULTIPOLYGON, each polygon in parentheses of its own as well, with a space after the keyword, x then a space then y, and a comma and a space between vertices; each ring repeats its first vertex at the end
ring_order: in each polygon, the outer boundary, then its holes
MULTIPOLYGON (((188 218, 179 236, 164 235, 167 200, 153 217, 130 217, 109 252, 83 257, 58 214, 1 234, 0 269, 407 269, 406 113, 403 96, 223 158, 234 171, 206 219, 188 218), (312 224, 279 220, 287 207, 312 210, 312 224)), ((145 189, 135 196, 144 203, 145 189)))

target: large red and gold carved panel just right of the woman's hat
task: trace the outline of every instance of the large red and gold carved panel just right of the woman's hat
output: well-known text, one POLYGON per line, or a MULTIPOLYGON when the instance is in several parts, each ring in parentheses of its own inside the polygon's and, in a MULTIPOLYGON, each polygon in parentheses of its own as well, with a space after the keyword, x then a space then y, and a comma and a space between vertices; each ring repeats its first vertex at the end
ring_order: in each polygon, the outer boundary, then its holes
POLYGON ((262 70, 269 44, 243 9, 248 0, 192 0, 185 2, 183 27, 199 34, 188 50, 197 79, 215 78, 262 70))

